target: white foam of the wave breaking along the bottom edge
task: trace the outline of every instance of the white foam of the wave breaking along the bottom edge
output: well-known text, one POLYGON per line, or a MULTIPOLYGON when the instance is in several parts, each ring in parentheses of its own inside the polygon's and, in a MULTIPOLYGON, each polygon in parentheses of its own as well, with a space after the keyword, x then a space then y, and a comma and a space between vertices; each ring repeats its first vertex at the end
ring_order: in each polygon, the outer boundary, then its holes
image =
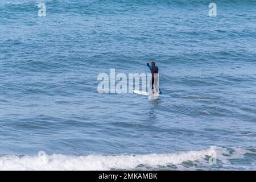
MULTIPOLYGON (((158 168, 174 164, 179 166, 183 162, 204 162, 210 165, 207 156, 214 156, 228 164, 229 158, 243 158, 247 150, 234 149, 230 155, 226 148, 210 147, 207 150, 179 152, 174 154, 147 154, 147 155, 86 155, 72 156, 53 154, 47 155, 40 151, 35 156, 1 156, 1 170, 110 170, 136 169, 138 166, 158 168)), ((145 168, 146 169, 146 168, 145 168)))

